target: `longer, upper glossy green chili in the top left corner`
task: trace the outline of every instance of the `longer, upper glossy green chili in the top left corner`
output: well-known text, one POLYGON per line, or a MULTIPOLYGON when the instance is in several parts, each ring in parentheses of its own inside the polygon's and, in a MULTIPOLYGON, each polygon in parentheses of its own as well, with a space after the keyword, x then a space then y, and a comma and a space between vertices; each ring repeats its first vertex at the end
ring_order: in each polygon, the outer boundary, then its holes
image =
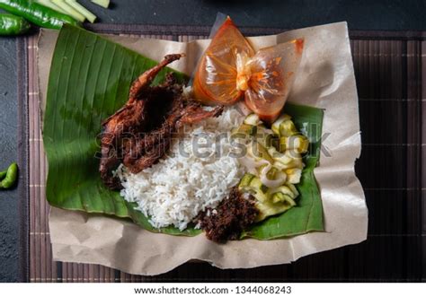
POLYGON ((0 0, 0 8, 22 16, 22 18, 43 28, 60 29, 64 23, 80 25, 80 22, 75 21, 69 15, 58 13, 32 0, 0 0))

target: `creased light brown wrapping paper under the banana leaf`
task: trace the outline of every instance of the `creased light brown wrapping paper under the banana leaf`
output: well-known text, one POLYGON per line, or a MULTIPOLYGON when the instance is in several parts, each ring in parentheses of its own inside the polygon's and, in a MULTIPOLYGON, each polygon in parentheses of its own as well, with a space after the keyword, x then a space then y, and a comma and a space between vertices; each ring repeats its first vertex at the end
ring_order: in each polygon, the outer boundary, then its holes
MULTIPOLYGON (((40 107, 44 109, 49 65, 58 32, 41 31, 39 40, 40 107)), ((220 268, 248 268, 289 263, 315 252, 358 243, 367 238, 368 210, 355 176, 360 133, 358 96, 346 22, 250 38, 263 48, 305 38, 297 80, 289 101, 324 111, 324 150, 315 177, 324 206, 324 232, 280 240, 240 240, 216 244, 205 238, 176 237, 145 231, 136 224, 99 214, 52 208, 49 217, 53 258, 111 266, 137 275, 157 275, 191 259, 220 268), (324 153, 325 152, 325 153, 324 153)), ((172 67, 191 74, 208 40, 181 43, 155 39, 108 39, 160 60, 170 53, 187 57, 172 67)))

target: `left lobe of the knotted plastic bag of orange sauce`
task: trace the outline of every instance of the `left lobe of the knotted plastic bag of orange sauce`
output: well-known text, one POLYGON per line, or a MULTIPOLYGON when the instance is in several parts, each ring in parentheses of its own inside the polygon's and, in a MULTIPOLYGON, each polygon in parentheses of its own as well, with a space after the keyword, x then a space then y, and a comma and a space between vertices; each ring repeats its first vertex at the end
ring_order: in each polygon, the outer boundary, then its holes
POLYGON ((206 104, 234 104, 243 96, 236 88, 236 55, 253 57, 254 50, 229 17, 200 59, 194 76, 195 98, 206 104))

